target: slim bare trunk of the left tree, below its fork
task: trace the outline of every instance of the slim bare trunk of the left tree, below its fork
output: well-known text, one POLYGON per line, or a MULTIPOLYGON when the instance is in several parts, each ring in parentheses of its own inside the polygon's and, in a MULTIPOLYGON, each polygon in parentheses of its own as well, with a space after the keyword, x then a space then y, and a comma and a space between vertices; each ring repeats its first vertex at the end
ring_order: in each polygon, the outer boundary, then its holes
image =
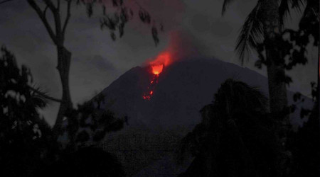
POLYGON ((70 72, 70 62, 71 62, 71 52, 65 49, 65 47, 57 47, 58 50, 58 72, 60 74, 61 86, 62 86, 62 98, 63 101, 60 103, 60 108, 58 111, 57 119, 55 120, 55 125, 53 127, 53 133, 56 137, 59 136, 61 127, 63 125, 63 118, 65 113, 70 110, 73 105, 70 96, 69 89, 69 72, 70 72))

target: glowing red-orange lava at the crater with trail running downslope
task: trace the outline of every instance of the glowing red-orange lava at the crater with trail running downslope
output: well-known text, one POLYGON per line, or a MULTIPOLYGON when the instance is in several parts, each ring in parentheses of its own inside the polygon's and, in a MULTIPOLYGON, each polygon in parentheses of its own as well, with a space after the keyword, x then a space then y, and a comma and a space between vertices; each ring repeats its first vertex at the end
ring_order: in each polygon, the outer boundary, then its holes
POLYGON ((154 94, 154 89, 156 84, 159 81, 159 75, 161 74, 164 67, 171 63, 171 57, 169 52, 161 53, 153 62, 150 62, 149 65, 151 66, 151 73, 153 77, 149 83, 146 93, 143 94, 142 98, 144 100, 150 100, 151 96, 154 94))

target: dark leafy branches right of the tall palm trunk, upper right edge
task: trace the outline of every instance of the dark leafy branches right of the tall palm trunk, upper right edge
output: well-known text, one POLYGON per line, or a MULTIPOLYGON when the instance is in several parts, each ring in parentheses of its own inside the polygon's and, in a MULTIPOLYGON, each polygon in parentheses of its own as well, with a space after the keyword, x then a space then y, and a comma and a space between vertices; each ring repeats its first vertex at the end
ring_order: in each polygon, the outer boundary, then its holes
MULTIPOLYGON (((319 1, 307 1, 306 8, 304 10, 304 15, 302 16, 302 19, 299 22, 299 29, 284 30, 283 39, 279 42, 281 42, 280 45, 282 45, 283 56, 288 58, 287 64, 285 65, 285 69, 290 70, 297 64, 304 65, 308 62, 307 47, 311 42, 313 42, 314 47, 319 46, 319 13, 317 12, 319 12, 319 1)), ((260 59, 258 62, 263 63, 263 59, 260 59)), ((288 79, 290 78, 288 77, 288 79)), ((319 88, 319 74, 317 74, 317 80, 317 84, 315 82, 311 82, 311 94, 314 97, 314 100, 316 100, 316 97, 319 97, 319 90, 316 89, 316 87, 319 88)), ((295 93, 294 101, 303 102, 301 96, 301 93, 295 93)), ((307 115, 310 112, 310 110, 302 109, 302 115, 307 115)), ((303 117, 304 116, 302 116, 302 118, 303 117)))

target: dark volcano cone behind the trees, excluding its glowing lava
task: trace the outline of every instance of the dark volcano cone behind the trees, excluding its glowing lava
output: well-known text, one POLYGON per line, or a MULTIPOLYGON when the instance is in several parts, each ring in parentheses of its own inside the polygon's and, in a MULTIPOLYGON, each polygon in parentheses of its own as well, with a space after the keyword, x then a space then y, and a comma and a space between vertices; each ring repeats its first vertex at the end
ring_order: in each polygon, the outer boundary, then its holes
MULTIPOLYGON (((134 67, 100 93, 113 102, 111 110, 129 117, 129 125, 193 127, 200 122, 199 110, 213 101, 220 84, 230 78, 257 86, 268 96, 265 76, 218 59, 185 59, 163 71, 161 66, 161 74, 152 74, 152 69, 134 67), (149 92, 155 76, 152 98, 145 101, 143 95, 149 92)), ((292 97, 293 93, 288 91, 289 104, 293 103, 292 97)), ((311 101, 306 98, 304 104, 310 106, 311 101)), ((302 120, 292 119, 294 126, 301 123, 302 120)))

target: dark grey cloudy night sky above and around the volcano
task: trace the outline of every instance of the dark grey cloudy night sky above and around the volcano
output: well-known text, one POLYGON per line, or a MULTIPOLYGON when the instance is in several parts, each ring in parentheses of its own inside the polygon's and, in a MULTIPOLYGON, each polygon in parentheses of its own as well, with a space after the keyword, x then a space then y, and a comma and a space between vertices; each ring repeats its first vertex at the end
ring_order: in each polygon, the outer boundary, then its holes
MULTIPOLYGON (((137 5, 130 1, 132 8, 137 5)), ((142 66, 169 46, 170 34, 179 36, 178 50, 194 47, 201 55, 239 64, 234 47, 245 17, 256 0, 241 0, 221 16, 223 0, 137 0, 156 21, 164 23, 160 44, 155 47, 151 30, 134 19, 124 29, 124 37, 113 42, 107 30, 100 30, 100 8, 87 18, 83 6, 73 6, 65 46, 73 53, 70 89, 73 103, 81 103, 105 89, 128 69, 142 66)), ((0 45, 14 52, 19 64, 31 68, 36 84, 50 96, 60 98, 60 81, 56 66, 55 45, 36 12, 26 1, 14 0, 0 5, 0 45)), ((48 18, 52 16, 48 14, 48 18)), ((287 25, 297 28, 299 14, 293 13, 287 25)), ((294 81, 289 89, 310 96, 310 81, 316 81, 318 48, 309 47, 309 64, 296 67, 289 75, 294 81)), ((261 74, 254 67, 255 55, 242 67, 261 74)), ((50 125, 55 121, 58 104, 50 103, 43 112, 50 125)))

